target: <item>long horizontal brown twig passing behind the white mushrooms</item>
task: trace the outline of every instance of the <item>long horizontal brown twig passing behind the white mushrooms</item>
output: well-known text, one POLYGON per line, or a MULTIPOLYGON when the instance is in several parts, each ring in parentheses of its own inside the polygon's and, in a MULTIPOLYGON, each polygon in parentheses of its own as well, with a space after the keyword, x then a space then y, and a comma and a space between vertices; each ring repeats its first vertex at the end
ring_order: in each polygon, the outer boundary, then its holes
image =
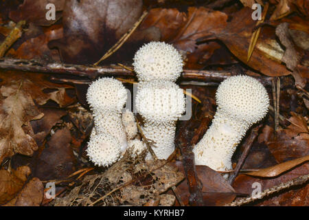
MULTIPOLYGON (((0 58, 0 69, 20 70, 25 72, 38 72, 41 74, 58 74, 65 76, 78 76, 89 79, 97 78, 98 76, 113 76, 135 78, 135 73, 120 67, 119 65, 109 66, 93 66, 93 65, 69 65, 62 63, 43 63, 41 61, 0 58)), ((209 71, 209 70, 194 70, 184 69, 181 74, 181 80, 201 80, 204 82, 222 82, 229 76, 233 76, 231 72, 226 71, 209 71)), ((56 77, 56 76, 54 76, 56 77)), ((261 76, 256 78, 264 86, 271 86, 271 77, 261 76)), ((69 79, 67 79, 69 81, 69 79)))

